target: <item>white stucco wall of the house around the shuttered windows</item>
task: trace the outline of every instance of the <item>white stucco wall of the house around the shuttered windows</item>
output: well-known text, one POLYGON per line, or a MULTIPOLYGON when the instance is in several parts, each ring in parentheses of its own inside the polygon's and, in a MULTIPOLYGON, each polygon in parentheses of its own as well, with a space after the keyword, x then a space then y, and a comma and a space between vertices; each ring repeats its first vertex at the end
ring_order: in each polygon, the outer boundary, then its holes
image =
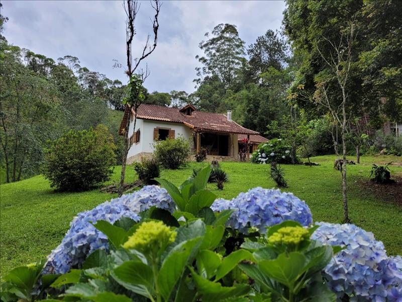
MULTIPOLYGON (((154 128, 157 127, 175 130, 175 137, 183 136, 184 138, 190 139, 190 145, 193 147, 191 129, 184 124, 137 119, 135 131, 140 129, 140 141, 130 147, 127 158, 133 157, 139 153, 153 152, 154 128)), ((130 123, 129 137, 134 133, 133 128, 134 123, 130 123)))

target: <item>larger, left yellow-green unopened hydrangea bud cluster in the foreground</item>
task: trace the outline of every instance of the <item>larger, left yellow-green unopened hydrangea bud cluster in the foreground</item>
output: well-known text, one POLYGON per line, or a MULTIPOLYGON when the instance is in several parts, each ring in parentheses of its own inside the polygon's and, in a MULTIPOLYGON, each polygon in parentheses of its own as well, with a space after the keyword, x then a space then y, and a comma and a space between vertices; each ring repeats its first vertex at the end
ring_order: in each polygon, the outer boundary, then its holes
POLYGON ((164 247, 174 242, 177 233, 162 221, 143 222, 123 245, 125 249, 146 251, 152 247, 164 247))

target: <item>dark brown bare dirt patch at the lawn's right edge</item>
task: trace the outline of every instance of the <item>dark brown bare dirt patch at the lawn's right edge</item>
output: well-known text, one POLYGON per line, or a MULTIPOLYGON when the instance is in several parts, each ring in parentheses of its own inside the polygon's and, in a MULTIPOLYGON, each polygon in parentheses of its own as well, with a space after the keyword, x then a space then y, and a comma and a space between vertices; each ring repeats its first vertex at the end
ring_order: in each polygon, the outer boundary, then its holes
POLYGON ((402 177, 392 177, 393 184, 380 185, 371 180, 359 179, 357 183, 365 193, 374 194, 385 202, 395 203, 402 206, 402 177))

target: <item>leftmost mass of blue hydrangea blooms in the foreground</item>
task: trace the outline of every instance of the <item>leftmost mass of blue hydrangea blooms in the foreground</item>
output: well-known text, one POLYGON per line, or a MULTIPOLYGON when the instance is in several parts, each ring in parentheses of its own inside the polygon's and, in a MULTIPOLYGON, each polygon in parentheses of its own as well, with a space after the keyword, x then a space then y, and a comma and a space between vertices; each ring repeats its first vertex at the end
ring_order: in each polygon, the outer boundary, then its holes
POLYGON ((86 256, 97 249, 108 250, 108 239, 90 223, 106 220, 110 223, 129 217, 139 221, 138 213, 157 206, 173 212, 174 202, 165 189, 145 186, 141 190, 99 204, 95 208, 78 213, 70 223, 61 244, 48 256, 44 273, 63 274, 82 263, 86 256))

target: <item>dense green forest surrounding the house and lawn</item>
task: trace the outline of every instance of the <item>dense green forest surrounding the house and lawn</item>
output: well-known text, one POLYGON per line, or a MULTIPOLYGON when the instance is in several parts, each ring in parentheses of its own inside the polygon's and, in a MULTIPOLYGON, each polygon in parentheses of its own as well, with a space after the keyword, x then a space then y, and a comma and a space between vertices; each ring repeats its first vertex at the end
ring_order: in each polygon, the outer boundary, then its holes
MULTIPOLYGON (((345 91, 348 143, 368 150, 380 143, 375 130, 385 120, 402 120, 400 15, 396 1, 286 1, 281 31, 261 29, 265 33, 246 45, 236 25, 215 26, 199 43, 195 91, 144 87, 144 102, 232 110, 236 122, 268 138, 284 137, 293 152, 303 147, 302 155, 309 156, 334 152, 345 91), (353 41, 347 39, 350 28, 357 33, 353 41), (350 48, 343 47, 345 41, 350 48), (344 61, 332 64, 337 45, 350 50, 342 89, 344 61)), ((1 17, 2 182, 40 173, 49 140, 98 124, 113 134, 119 164, 123 144, 117 130, 127 85, 89 70, 77 57, 48 58, 11 45, 3 35, 7 21, 1 17)))

